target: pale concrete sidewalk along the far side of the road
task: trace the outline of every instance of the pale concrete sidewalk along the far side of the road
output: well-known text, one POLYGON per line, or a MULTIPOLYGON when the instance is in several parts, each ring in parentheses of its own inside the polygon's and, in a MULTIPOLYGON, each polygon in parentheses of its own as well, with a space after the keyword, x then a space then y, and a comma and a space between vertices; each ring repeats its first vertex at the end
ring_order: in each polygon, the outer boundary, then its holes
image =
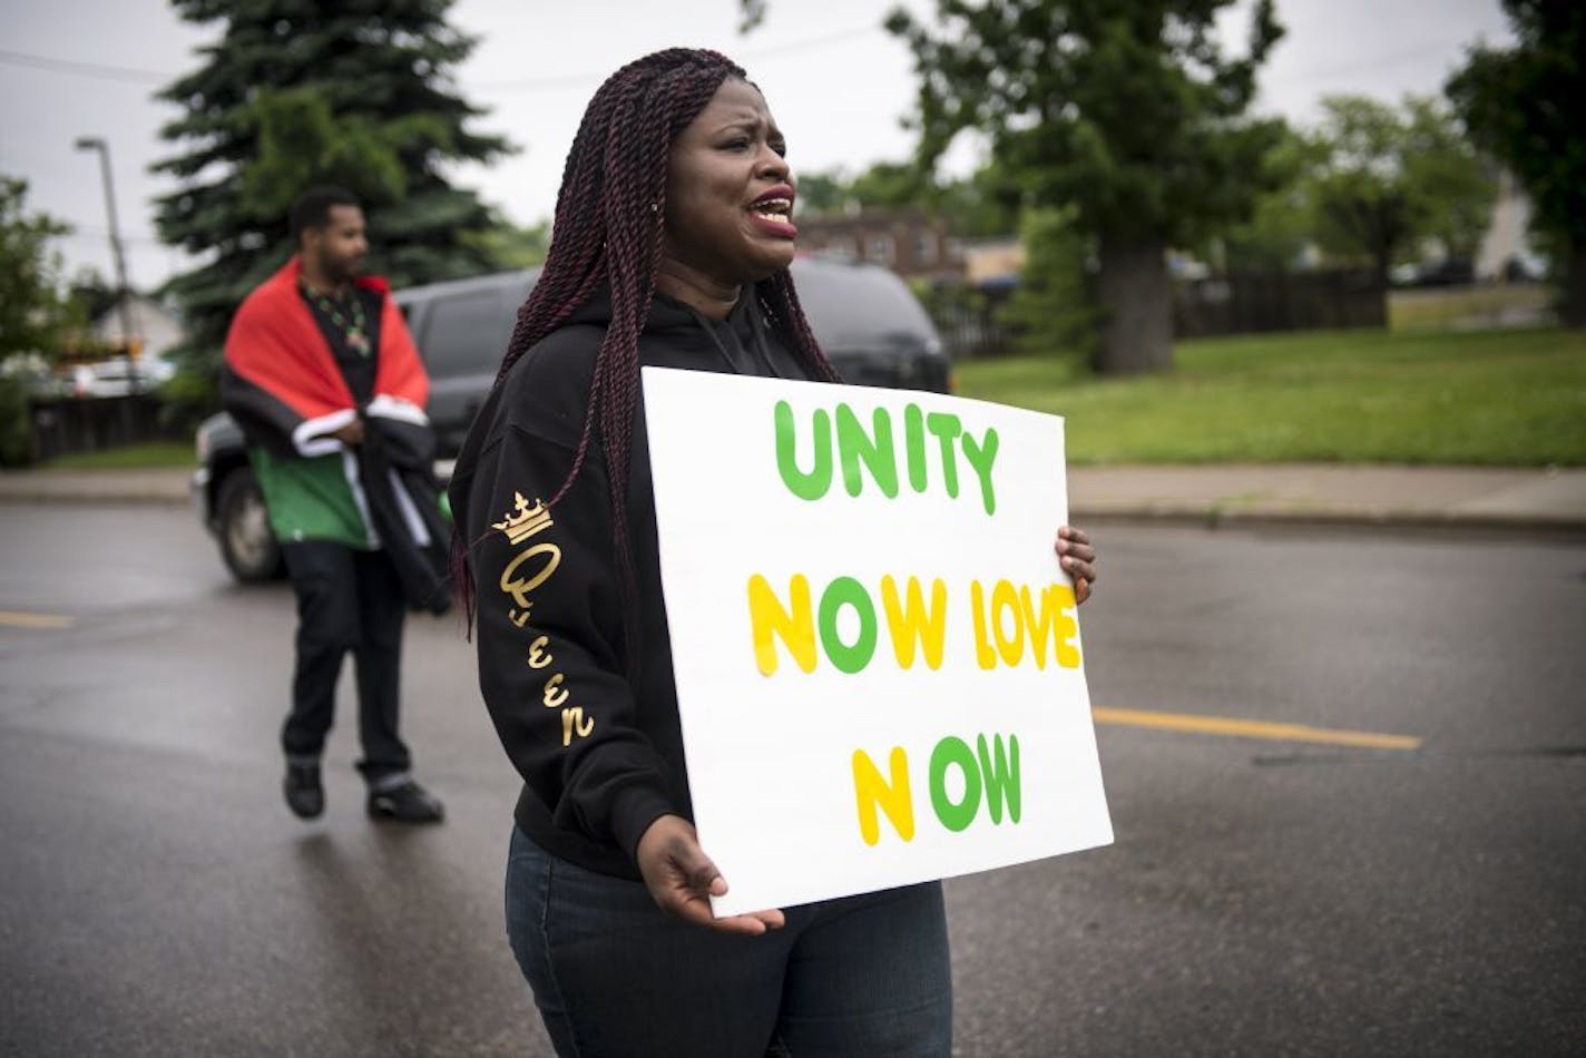
MULTIPOLYGON (((0 471, 0 503, 189 503, 187 470, 0 471)), ((1586 470, 1075 466, 1071 520, 1413 525, 1586 533, 1586 470)))

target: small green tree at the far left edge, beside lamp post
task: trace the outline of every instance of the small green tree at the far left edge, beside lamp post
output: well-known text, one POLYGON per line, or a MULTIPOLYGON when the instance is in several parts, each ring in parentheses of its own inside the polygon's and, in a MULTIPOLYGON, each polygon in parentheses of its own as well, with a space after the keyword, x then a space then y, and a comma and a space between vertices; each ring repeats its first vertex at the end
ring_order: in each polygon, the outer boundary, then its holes
POLYGON ((51 240, 71 227, 27 211, 27 181, 0 173, 0 360, 17 352, 51 357, 79 324, 51 240))

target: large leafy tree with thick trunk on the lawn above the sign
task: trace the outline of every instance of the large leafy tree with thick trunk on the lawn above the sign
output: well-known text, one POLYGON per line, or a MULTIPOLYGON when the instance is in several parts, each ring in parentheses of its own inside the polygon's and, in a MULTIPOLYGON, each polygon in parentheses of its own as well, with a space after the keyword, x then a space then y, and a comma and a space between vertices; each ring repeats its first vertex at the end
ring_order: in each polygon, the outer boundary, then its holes
POLYGON ((888 16, 920 75, 921 160, 982 128, 1029 205, 1072 206, 1094 238, 1104 373, 1170 365, 1166 249, 1248 216, 1275 186, 1280 124, 1245 111, 1281 29, 1258 0, 1247 54, 1226 57, 1215 21, 1229 2, 937 0, 934 35, 888 16))

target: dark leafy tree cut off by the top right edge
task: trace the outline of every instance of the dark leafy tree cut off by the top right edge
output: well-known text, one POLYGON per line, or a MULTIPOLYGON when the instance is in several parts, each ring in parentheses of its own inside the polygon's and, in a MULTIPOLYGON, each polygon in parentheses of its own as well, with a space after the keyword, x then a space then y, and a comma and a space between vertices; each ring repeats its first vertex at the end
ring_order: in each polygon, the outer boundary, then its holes
POLYGON ((1561 247, 1562 317, 1586 327, 1586 5, 1504 0, 1518 43, 1475 48, 1448 82, 1472 136, 1519 178, 1561 247))

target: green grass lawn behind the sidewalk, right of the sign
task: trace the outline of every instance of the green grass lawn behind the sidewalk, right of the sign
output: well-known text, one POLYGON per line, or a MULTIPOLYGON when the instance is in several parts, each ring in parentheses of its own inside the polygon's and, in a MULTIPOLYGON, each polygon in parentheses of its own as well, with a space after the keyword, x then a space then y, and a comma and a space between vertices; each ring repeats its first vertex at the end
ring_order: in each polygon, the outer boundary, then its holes
POLYGON ((1067 419, 1074 463, 1586 465, 1586 333, 1313 332, 1178 343, 1174 371, 955 365, 958 392, 1067 419))

